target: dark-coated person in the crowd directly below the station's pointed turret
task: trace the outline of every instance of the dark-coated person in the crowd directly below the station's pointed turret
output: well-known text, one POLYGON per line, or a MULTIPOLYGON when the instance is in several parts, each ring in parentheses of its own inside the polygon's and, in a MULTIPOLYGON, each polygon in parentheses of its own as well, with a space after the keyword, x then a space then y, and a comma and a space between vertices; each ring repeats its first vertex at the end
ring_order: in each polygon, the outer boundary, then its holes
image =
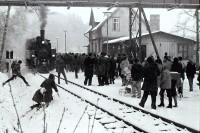
POLYGON ((85 71, 85 80, 84 85, 92 85, 92 77, 94 73, 94 59, 92 58, 92 54, 89 53, 88 57, 85 58, 84 61, 84 71, 85 71))

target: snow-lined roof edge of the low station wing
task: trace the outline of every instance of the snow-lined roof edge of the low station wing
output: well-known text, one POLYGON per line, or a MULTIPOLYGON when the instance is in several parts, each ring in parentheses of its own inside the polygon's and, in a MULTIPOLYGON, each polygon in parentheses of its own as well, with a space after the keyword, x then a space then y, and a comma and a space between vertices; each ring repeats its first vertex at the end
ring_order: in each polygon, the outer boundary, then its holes
MULTIPOLYGON (((171 34, 171 33, 167 33, 167 32, 164 32, 164 31, 154 31, 154 32, 152 32, 152 34, 159 34, 159 33, 167 34, 167 35, 170 35, 170 36, 174 36, 174 37, 178 37, 178 38, 182 38, 182 39, 187 39, 189 41, 195 42, 195 40, 185 38, 185 37, 181 37, 181 36, 178 36, 178 35, 174 35, 174 34, 171 34)), ((145 37, 145 36, 149 36, 149 33, 142 33, 142 37, 145 37)), ((112 40, 108 41, 108 44, 117 43, 117 42, 124 42, 124 41, 129 40, 129 38, 130 38, 129 36, 126 36, 126 37, 120 37, 120 38, 117 38, 117 39, 112 39, 112 40)), ((133 35, 132 39, 135 39, 135 38, 136 38, 135 35, 133 35)), ((104 41, 104 43, 107 43, 107 41, 104 41)))

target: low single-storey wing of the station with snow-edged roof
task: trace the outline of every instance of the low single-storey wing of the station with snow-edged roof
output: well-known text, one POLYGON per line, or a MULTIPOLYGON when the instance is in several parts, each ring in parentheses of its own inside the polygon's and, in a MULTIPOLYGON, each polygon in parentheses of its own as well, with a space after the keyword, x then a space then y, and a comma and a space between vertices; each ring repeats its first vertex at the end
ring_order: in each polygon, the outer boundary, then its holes
MULTIPOLYGON (((163 59, 164 53, 167 52, 171 57, 182 56, 183 59, 191 59, 195 61, 195 47, 196 42, 191 39, 166 33, 163 31, 152 32, 156 47, 160 57, 163 59)), ((132 42, 135 42, 136 38, 133 38, 132 42)), ((113 40, 109 40, 109 53, 113 56, 118 54, 132 54, 131 47, 129 44, 129 37, 122 37, 113 40)), ((106 42, 103 44, 103 48, 106 47, 106 42)), ((137 45, 133 43, 132 45, 137 45)), ((142 46, 141 46, 142 58, 153 55, 156 57, 153 44, 149 34, 142 34, 142 46)))

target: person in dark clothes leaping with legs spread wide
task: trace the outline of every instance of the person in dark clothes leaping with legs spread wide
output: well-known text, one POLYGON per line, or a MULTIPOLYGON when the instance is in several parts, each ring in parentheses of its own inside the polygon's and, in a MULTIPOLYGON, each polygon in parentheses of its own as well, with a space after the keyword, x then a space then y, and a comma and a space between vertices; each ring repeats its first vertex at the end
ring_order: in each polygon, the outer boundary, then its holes
POLYGON ((12 77, 9 78, 7 81, 3 82, 3 84, 2 84, 3 86, 6 83, 10 82, 11 80, 15 79, 16 77, 21 78, 24 81, 24 83, 26 84, 26 86, 30 86, 29 83, 26 81, 26 79, 21 74, 21 71, 20 71, 20 69, 21 69, 20 65, 21 64, 22 64, 21 60, 19 60, 18 62, 13 61, 13 63, 11 64, 12 77))

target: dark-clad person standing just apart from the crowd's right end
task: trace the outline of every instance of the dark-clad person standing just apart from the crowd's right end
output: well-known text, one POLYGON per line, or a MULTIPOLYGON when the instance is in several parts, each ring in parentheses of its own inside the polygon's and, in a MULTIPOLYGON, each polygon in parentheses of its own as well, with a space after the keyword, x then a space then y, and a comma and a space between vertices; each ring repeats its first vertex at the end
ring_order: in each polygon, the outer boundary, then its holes
POLYGON ((186 66, 186 76, 189 82, 190 91, 193 91, 193 79, 195 73, 196 73, 196 66, 191 60, 189 60, 186 66))

